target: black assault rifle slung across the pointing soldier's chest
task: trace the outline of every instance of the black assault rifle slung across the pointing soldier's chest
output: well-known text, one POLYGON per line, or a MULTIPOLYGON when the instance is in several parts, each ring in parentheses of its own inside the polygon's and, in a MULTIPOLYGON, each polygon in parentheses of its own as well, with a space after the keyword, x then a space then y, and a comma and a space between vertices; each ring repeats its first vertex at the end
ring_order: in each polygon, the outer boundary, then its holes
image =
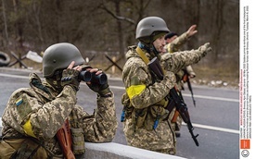
MULTIPOLYGON (((157 57, 154 57, 148 63, 148 67, 154 76, 156 76, 160 80, 163 79, 163 71, 162 71, 162 68, 160 67, 160 61, 157 57)), ((169 94, 170 94, 171 98, 166 107, 166 109, 169 110, 169 115, 173 111, 173 108, 175 106, 176 110, 182 116, 183 121, 186 123, 186 126, 189 130, 189 133, 191 134, 193 141, 195 141, 196 145, 199 146, 199 143, 197 140, 198 134, 195 136, 193 133, 194 128, 190 121, 189 113, 187 111, 187 107, 186 107, 184 100, 180 97, 180 95, 177 93, 177 91, 175 90, 174 87, 173 87, 173 89, 170 90, 169 94)))

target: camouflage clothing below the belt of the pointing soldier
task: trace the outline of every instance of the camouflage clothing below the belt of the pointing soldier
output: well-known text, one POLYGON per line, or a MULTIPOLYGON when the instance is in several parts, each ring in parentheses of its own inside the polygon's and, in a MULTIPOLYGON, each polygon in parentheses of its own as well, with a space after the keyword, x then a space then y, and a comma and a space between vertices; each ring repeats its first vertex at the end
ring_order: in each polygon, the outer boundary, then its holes
POLYGON ((123 124, 128 145, 158 153, 176 153, 176 137, 171 126, 171 120, 161 121, 155 130, 153 128, 152 130, 146 128, 134 129, 131 118, 126 119, 123 124))

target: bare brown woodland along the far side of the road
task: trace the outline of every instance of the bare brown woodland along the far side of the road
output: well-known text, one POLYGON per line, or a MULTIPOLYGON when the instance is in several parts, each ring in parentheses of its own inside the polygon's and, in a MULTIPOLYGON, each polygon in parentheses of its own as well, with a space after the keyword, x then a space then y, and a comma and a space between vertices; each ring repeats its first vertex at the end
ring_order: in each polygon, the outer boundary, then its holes
MULTIPOLYGON (((136 24, 158 16, 178 34, 197 24, 198 33, 183 50, 211 43, 212 53, 193 65, 194 83, 238 87, 239 0, 1 0, 0 51, 19 57, 38 54, 53 43, 75 44, 92 67, 122 77, 109 69, 117 61, 122 68, 127 47, 137 43, 136 24)), ((33 69, 42 64, 24 60, 33 69)), ((20 67, 15 65, 14 67, 20 67)))

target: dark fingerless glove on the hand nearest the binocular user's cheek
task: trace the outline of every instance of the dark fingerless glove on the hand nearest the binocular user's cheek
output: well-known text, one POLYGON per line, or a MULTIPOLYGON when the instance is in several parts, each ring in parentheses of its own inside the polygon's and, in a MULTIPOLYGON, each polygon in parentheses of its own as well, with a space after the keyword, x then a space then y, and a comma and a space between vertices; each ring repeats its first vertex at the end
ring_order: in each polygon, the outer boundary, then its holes
POLYGON ((64 69, 62 72, 61 86, 70 85, 75 91, 79 90, 79 71, 75 69, 64 69))

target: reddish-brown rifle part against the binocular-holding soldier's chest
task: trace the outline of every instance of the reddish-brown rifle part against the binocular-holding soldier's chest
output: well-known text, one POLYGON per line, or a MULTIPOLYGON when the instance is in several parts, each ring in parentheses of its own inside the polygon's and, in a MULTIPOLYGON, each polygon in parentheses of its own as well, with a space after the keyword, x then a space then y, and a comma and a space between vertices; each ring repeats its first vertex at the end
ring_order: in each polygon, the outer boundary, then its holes
POLYGON ((70 124, 68 119, 66 119, 62 127, 58 129, 57 138, 65 158, 75 159, 75 156, 71 150, 72 140, 71 140, 70 124))

